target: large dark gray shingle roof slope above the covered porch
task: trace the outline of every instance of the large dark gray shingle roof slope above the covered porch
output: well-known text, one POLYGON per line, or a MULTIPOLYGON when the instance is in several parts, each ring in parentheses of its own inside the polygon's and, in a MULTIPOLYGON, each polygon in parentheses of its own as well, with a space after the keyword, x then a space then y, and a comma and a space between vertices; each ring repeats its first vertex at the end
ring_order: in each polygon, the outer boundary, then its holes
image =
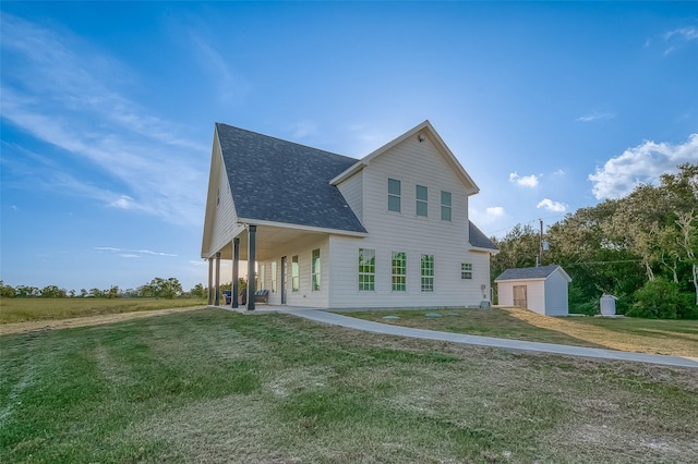
POLYGON ((329 180, 356 159, 216 123, 238 216, 366 232, 329 180))

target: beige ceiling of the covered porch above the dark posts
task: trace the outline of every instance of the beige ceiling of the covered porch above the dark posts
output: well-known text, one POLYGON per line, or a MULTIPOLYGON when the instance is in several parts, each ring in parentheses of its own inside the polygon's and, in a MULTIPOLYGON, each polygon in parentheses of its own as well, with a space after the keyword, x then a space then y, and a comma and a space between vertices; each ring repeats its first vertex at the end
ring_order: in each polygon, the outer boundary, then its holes
MULTIPOLYGON (((279 248, 286 248, 288 244, 294 247, 303 246, 305 243, 313 243, 327 232, 315 232, 302 229, 292 229, 275 225, 257 225, 256 252, 257 261, 265 261, 278 256, 279 248)), ((240 239, 240 259, 248 259, 248 230, 243 229, 238 237, 240 239)), ((220 249, 221 259, 232 259, 232 240, 220 249)))

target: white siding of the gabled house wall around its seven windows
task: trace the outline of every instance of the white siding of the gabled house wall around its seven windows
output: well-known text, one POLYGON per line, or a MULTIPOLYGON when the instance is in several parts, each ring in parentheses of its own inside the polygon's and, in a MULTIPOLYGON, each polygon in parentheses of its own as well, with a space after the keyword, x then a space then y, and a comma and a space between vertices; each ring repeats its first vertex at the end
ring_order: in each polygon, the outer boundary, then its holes
POLYGON ((332 236, 332 307, 478 306, 489 300, 490 255, 468 252, 468 195, 429 138, 417 136, 374 158, 363 173, 364 239, 332 236), (401 211, 388 212, 388 179, 401 183, 401 211), (416 186, 429 190, 428 217, 417 217, 416 186), (452 221, 441 220, 441 192, 452 194, 452 221), (359 292, 359 248, 375 249, 375 291, 359 292), (393 252, 407 254, 407 291, 393 292, 393 252), (421 255, 434 255, 434 292, 421 291, 421 255), (471 262, 473 279, 460 278, 471 262), (485 285, 484 292, 481 285, 485 285))

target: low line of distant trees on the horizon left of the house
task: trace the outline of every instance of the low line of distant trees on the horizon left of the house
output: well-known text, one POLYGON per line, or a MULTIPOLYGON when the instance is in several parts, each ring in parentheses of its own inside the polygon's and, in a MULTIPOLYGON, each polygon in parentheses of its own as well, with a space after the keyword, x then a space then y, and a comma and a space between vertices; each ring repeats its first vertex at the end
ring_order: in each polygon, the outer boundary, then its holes
POLYGON ((0 280, 0 296, 4 298, 27 298, 27 297, 44 297, 44 298, 118 298, 118 297, 144 297, 144 298, 205 298, 208 294, 208 289, 203 284, 197 283, 189 292, 184 292, 182 284, 177 278, 170 277, 167 279, 156 277, 149 282, 136 288, 121 290, 118 285, 111 285, 109 289, 80 289, 65 290, 58 285, 46 285, 43 289, 31 285, 5 285, 0 280))

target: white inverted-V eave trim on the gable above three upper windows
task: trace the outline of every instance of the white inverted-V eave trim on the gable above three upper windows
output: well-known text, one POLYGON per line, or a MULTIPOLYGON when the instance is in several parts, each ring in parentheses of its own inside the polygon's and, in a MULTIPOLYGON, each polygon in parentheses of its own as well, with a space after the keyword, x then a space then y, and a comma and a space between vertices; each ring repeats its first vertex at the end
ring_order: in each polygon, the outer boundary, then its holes
POLYGON ((478 185, 474 183, 472 178, 470 178, 470 175, 466 172, 466 170, 460 164, 456 156, 450 151, 448 146, 446 146, 446 144, 441 138, 438 133, 436 133, 436 130, 434 130, 434 126, 432 126, 429 120, 422 122, 421 124, 416 125, 411 130, 407 131, 405 134, 388 142, 381 148, 372 151, 371 154, 366 155, 359 161, 354 162, 344 172, 335 176, 330 181, 330 183, 333 185, 337 185, 342 181, 349 179, 351 175, 356 174, 357 172, 361 171, 364 167, 369 166, 371 161, 373 161, 375 158, 380 157, 381 155, 388 151, 390 148, 395 147, 396 145, 399 145, 400 143, 405 142, 407 138, 412 136, 424 136, 424 137, 429 137, 432 141, 438 154, 446 160, 447 164, 450 167, 450 169, 456 174, 456 176, 460 180, 460 182, 462 182, 466 193, 468 195, 474 195, 478 192, 480 192, 480 188, 478 187, 478 185))

